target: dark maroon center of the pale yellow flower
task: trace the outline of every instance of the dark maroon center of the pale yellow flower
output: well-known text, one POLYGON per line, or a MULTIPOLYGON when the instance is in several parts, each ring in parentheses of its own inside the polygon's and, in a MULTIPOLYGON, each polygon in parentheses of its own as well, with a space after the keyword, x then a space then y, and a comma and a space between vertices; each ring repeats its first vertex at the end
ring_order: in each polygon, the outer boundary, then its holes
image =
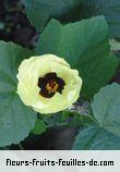
POLYGON ((64 85, 64 81, 58 77, 55 72, 47 73, 44 77, 38 78, 39 94, 46 98, 51 98, 57 91, 62 94, 64 85))

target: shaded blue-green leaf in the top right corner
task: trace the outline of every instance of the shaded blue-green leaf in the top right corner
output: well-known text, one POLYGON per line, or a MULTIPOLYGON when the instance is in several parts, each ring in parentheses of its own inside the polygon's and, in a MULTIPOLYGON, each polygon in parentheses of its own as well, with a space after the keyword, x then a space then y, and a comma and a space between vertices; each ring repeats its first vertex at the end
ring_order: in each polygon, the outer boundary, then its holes
POLYGON ((112 36, 120 37, 120 0, 82 0, 83 17, 105 15, 112 36))

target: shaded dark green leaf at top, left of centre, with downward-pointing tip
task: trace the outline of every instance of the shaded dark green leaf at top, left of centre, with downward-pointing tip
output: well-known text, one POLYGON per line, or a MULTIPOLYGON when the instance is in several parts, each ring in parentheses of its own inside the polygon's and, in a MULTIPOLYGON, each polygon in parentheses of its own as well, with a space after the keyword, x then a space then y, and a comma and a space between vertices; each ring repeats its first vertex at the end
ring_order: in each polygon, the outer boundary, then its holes
POLYGON ((23 4, 28 20, 40 32, 50 17, 70 22, 80 14, 80 0, 23 0, 23 4))

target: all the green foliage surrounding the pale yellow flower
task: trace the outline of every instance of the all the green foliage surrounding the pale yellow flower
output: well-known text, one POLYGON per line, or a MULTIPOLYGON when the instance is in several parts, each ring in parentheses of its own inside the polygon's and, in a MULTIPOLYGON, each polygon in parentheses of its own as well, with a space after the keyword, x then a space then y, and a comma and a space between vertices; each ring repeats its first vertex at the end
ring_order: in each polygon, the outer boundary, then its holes
POLYGON ((119 65, 119 0, 22 0, 39 33, 33 51, 0 41, 0 147, 19 144, 29 133, 52 126, 80 126, 72 149, 120 149, 120 85, 109 84, 119 65), (109 30, 111 35, 109 34, 109 30), (110 39, 110 37, 113 37, 110 39), (109 44, 110 39, 110 44, 109 44), (80 100, 87 113, 65 110, 36 114, 16 94, 20 63, 32 56, 64 58, 83 79, 80 100), (97 94, 96 94, 97 93, 97 94))

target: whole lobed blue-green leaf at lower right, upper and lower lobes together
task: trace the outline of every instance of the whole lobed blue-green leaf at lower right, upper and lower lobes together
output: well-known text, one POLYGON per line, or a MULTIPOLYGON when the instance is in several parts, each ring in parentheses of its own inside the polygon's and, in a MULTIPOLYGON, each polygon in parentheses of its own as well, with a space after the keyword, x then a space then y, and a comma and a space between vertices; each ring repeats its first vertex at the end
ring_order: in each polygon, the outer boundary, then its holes
POLYGON ((79 132, 73 149, 120 149, 120 85, 101 88, 92 109, 95 124, 79 132))

